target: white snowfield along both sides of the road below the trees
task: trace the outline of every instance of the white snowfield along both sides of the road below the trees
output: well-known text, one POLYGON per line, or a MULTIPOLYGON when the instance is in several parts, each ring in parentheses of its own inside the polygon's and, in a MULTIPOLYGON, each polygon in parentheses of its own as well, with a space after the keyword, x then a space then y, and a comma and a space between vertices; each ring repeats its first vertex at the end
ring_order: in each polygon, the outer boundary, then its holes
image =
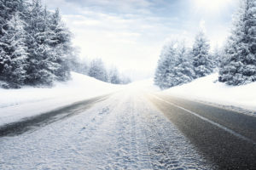
MULTIPOLYGON (((160 93, 228 106, 231 109, 243 108, 256 111, 256 93, 254 93, 256 92, 256 82, 232 87, 217 82, 217 78, 218 74, 212 74, 160 93)), ((0 125, 124 88, 135 88, 148 92, 159 91, 159 88, 153 84, 153 79, 148 79, 126 86, 113 85, 73 72, 71 81, 56 82, 54 88, 0 88, 0 125)))

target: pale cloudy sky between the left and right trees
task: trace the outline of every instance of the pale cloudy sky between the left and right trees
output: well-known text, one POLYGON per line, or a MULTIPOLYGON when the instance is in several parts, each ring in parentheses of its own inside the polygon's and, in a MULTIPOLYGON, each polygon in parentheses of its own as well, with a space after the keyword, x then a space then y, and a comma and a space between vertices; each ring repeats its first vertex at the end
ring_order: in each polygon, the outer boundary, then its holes
POLYGON ((60 8, 81 57, 102 58, 132 74, 153 77, 165 42, 193 42, 204 28, 214 47, 228 35, 238 0, 42 0, 60 8))

